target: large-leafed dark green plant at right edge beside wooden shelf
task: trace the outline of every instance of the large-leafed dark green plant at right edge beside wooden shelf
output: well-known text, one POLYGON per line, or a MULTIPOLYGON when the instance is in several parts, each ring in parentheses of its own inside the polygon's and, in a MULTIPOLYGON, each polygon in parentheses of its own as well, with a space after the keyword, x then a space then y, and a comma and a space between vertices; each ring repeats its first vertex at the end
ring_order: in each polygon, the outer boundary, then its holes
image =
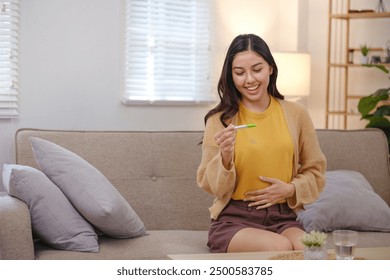
MULTIPOLYGON (((367 66, 376 67, 389 74, 389 70, 383 65, 375 64, 367 66)), ((386 134, 390 150, 390 87, 380 88, 374 93, 360 98, 358 110, 361 114, 361 119, 368 121, 367 128, 379 128, 386 134)))

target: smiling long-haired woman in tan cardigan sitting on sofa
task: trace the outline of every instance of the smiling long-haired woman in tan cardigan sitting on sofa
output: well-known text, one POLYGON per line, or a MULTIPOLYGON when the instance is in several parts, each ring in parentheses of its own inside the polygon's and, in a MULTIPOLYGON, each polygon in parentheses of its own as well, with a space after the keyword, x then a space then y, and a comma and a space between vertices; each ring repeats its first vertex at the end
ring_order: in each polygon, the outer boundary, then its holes
POLYGON ((284 100, 277 75, 260 37, 233 40, 218 83, 220 103, 205 116, 197 174, 199 186, 215 196, 211 252, 303 249, 296 212, 319 196, 326 160, 309 114, 284 100), (253 126, 236 129, 243 124, 253 126))

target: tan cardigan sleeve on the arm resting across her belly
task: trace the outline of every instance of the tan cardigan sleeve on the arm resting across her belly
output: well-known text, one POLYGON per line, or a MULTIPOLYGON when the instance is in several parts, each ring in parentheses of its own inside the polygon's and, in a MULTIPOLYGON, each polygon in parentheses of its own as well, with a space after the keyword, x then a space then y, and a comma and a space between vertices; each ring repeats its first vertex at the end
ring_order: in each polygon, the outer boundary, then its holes
MULTIPOLYGON (((291 116, 290 116, 291 117, 291 116)), ((291 126, 296 141, 294 177, 295 195, 288 198, 290 208, 313 203, 325 185, 326 158, 321 151, 317 133, 306 109, 295 112, 291 126)))

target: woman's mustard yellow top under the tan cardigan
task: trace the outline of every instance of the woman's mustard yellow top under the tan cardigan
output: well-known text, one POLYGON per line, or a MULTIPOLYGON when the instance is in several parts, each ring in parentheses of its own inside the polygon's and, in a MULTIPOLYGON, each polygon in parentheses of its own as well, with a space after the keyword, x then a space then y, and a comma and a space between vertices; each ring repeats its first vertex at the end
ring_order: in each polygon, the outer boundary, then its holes
POLYGON ((256 127, 237 131, 234 155, 237 180, 232 195, 235 200, 244 199, 247 191, 269 186, 259 176, 290 182, 293 174, 294 146, 279 102, 272 97, 262 113, 251 112, 240 104, 237 125, 248 123, 256 127))

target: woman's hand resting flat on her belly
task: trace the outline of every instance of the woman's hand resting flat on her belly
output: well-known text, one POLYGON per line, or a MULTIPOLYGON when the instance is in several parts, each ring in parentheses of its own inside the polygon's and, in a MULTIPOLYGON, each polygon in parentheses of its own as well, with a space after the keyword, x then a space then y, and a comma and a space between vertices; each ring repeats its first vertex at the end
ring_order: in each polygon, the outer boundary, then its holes
POLYGON ((260 176, 259 179, 271 185, 261 190, 245 193, 247 198, 244 201, 253 201, 249 204, 250 207, 257 206, 256 209, 267 208, 282 199, 292 197, 295 193, 293 184, 264 176, 260 176))

